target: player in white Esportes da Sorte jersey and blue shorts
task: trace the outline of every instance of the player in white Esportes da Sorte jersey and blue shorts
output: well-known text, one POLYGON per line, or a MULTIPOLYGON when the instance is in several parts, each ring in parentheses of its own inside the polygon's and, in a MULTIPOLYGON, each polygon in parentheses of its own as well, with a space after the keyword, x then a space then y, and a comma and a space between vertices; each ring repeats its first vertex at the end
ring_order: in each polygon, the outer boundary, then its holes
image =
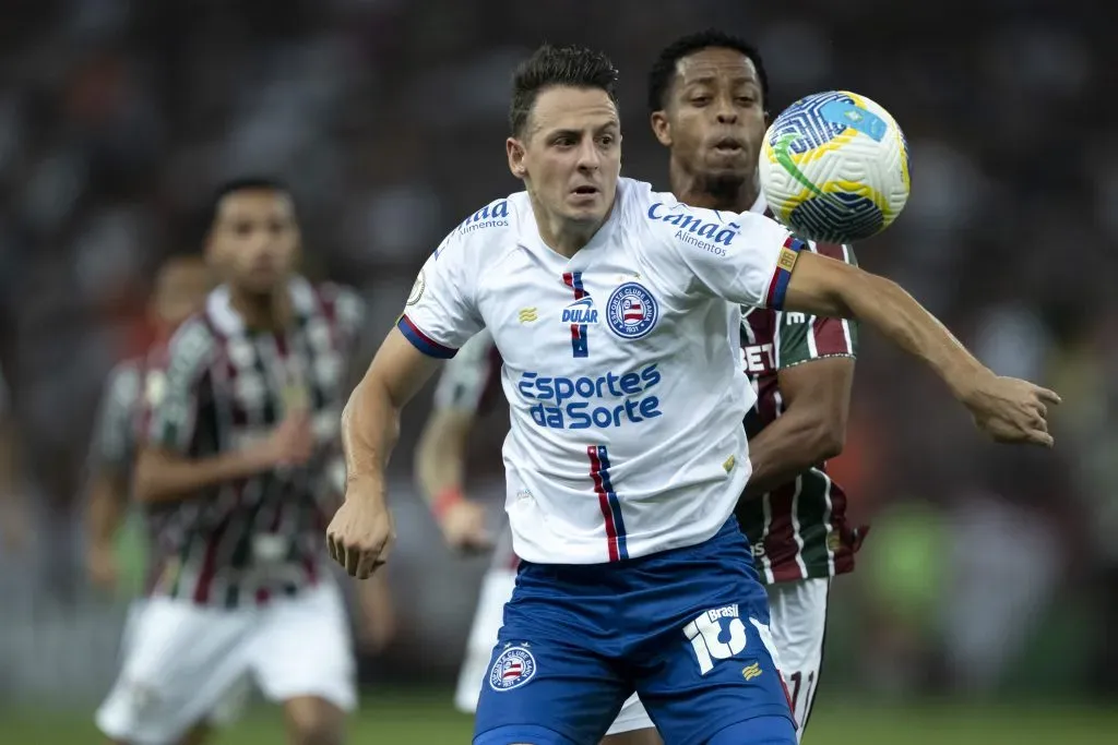
POLYGON ((521 557, 475 745, 596 742, 634 691, 673 745, 796 742, 765 589, 731 519, 749 478, 737 307, 855 316, 922 359, 996 439, 1051 445, 1032 383, 998 378, 892 281, 764 216, 692 209, 620 179, 616 70, 543 47, 513 83, 527 191, 424 266, 342 417, 331 555, 368 577, 394 539, 400 410, 483 327, 511 409, 506 512, 521 557), (729 303, 727 303, 729 300, 729 303))

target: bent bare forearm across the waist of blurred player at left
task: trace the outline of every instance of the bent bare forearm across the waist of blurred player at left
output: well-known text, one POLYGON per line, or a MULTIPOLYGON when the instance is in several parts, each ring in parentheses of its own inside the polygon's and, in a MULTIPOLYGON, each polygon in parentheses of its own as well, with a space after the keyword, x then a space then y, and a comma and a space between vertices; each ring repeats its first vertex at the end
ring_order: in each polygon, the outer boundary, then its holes
POLYGON ((259 456, 247 449, 199 459, 144 451, 136 464, 136 499, 177 502, 216 484, 248 478, 263 470, 259 456))

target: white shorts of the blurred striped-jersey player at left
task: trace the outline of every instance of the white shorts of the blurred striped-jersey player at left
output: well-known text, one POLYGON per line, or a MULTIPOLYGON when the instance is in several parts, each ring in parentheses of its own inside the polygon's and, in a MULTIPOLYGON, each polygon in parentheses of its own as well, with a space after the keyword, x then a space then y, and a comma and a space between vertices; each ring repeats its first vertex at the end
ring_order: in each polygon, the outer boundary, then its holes
POLYGON ((343 710, 357 705, 349 618, 333 582, 263 608, 153 598, 129 627, 120 677, 96 715, 110 738, 177 743, 200 722, 227 719, 249 676, 274 701, 316 696, 343 710))

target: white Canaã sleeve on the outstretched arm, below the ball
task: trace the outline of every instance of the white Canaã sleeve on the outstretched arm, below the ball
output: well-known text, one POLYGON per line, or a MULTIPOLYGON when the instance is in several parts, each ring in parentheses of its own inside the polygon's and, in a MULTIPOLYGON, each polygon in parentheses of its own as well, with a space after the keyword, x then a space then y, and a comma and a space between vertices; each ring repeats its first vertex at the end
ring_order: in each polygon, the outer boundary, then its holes
POLYGON ((656 242, 688 277, 684 292, 779 311, 803 242, 755 212, 719 212, 667 194, 645 213, 656 242))

